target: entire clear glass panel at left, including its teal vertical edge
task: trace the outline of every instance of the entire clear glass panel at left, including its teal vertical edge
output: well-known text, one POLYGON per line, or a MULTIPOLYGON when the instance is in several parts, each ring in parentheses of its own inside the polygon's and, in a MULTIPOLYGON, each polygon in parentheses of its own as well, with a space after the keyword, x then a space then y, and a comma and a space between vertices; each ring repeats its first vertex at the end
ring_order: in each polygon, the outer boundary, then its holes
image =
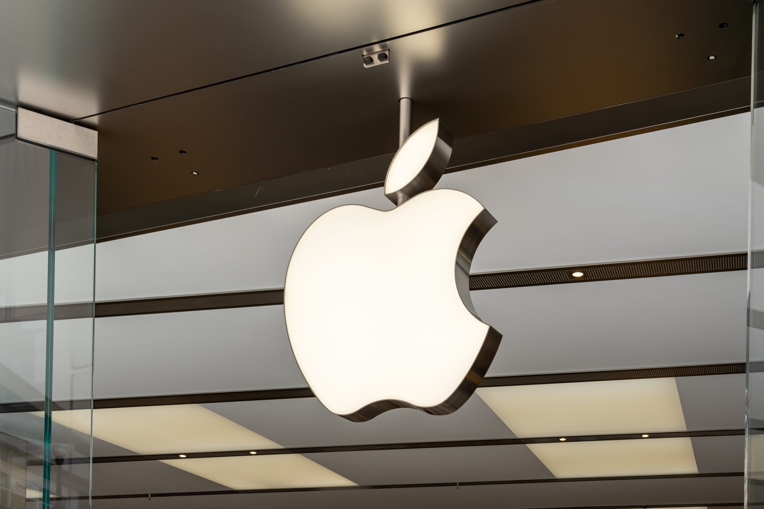
POLYGON ((88 507, 93 320, 54 305, 92 309, 95 162, 17 141, 7 109, 0 130, 0 507, 88 507))

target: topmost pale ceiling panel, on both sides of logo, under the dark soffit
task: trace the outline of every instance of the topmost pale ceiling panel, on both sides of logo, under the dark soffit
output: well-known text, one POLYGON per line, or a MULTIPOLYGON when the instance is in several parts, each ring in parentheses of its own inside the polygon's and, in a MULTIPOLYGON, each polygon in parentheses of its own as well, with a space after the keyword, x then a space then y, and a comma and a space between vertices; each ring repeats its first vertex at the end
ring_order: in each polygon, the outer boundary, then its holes
MULTIPOLYGON (((745 251, 748 179, 741 114, 450 173, 439 187, 498 220, 481 272, 745 251)), ((282 287, 299 235, 345 203, 391 206, 373 189, 103 242, 96 297, 282 287)))

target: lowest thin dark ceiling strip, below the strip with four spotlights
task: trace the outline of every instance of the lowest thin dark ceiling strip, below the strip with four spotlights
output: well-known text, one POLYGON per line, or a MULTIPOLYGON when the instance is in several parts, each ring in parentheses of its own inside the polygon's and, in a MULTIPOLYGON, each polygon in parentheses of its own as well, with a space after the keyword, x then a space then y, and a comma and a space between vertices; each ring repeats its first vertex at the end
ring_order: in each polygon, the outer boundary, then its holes
MULTIPOLYGON (((182 491, 176 493, 152 493, 149 494, 113 494, 113 495, 94 495, 92 500, 110 500, 116 498, 148 498, 154 497, 193 497, 201 495, 219 495, 219 494, 261 494, 261 493, 290 493, 298 491, 358 491, 358 490, 380 490, 380 489, 401 489, 401 488, 457 488, 458 486, 495 486, 495 485, 536 485, 550 484, 558 482, 586 482, 586 481, 643 481, 649 479, 697 479, 697 478, 719 478, 719 477, 743 477, 743 472, 712 472, 704 474, 665 474, 665 475, 618 475, 610 477, 573 477, 573 478, 545 478, 545 479, 509 479, 503 481, 466 481, 466 482, 423 482, 410 485, 361 485, 361 486, 325 486, 316 488, 274 488, 274 489, 256 489, 256 490, 217 490, 217 491, 182 491)), ((79 497, 60 497, 59 501, 89 500, 87 495, 79 497)), ((28 501, 38 501, 41 498, 28 498, 28 501)), ((681 504, 679 504, 681 505, 681 504)), ((641 506, 645 507, 645 506, 641 506)), ((658 507, 658 506, 649 506, 658 507)), ((672 504, 669 507, 678 507, 672 504)))

